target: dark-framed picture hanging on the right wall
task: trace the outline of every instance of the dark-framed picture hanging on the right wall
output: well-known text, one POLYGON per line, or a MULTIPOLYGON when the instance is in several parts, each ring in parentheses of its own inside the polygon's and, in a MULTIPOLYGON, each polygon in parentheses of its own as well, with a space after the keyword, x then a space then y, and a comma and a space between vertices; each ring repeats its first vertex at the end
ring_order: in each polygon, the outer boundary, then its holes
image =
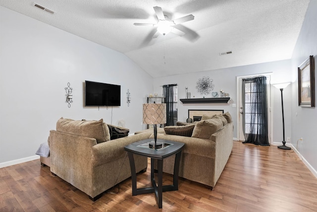
POLYGON ((315 63, 309 56, 298 67, 298 105, 315 107, 315 63))

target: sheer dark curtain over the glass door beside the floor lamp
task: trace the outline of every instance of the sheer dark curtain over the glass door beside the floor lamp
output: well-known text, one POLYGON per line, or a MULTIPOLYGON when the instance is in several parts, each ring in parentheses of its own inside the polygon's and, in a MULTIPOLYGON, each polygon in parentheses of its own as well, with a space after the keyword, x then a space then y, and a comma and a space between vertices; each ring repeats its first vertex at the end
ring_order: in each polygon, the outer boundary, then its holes
POLYGON ((244 143, 269 146, 266 77, 242 79, 244 143))

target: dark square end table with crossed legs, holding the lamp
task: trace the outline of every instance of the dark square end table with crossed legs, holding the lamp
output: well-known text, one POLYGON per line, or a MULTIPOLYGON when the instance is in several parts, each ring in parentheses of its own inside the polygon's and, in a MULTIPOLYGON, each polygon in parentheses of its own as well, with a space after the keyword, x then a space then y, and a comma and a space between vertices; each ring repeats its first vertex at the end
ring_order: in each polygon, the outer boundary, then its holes
POLYGON ((184 147, 184 143, 176 141, 168 141, 158 139, 157 141, 163 143, 163 147, 160 149, 149 148, 149 142, 153 139, 146 139, 138 142, 131 143, 124 147, 124 150, 128 152, 128 157, 130 161, 131 168, 131 178, 132 178, 132 196, 139 194, 150 194, 155 193, 156 199, 158 201, 158 206, 162 208, 162 192, 165 191, 177 191, 178 190, 178 171, 179 171, 179 161, 184 147), (143 155, 151 158, 151 182, 152 187, 139 188, 137 189, 137 175, 135 170, 135 163, 133 154, 143 155), (172 155, 175 155, 174 162, 174 176, 173 185, 162 185, 163 177, 163 159, 172 155), (158 185, 154 178, 154 161, 158 161, 158 185))

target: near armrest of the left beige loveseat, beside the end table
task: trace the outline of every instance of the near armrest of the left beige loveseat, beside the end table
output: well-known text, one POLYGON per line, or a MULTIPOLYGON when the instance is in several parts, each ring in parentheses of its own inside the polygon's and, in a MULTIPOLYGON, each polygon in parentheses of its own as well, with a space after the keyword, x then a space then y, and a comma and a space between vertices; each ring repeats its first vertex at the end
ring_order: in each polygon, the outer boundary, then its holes
POLYGON ((150 135, 149 133, 140 133, 94 145, 92 148, 93 165, 97 166, 123 157, 126 153, 124 146, 133 142, 149 139, 150 135))

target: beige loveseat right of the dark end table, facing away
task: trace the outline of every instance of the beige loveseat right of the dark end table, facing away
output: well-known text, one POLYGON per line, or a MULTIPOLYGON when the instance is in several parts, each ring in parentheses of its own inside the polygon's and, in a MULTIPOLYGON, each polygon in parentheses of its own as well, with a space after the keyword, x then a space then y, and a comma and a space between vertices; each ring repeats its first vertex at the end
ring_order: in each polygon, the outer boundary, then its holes
MULTIPOLYGON (((197 123, 168 126, 164 131, 160 129, 158 132, 158 139, 185 143, 179 176, 205 184, 212 189, 231 154, 233 146, 231 115, 228 112, 212 117, 203 115, 202 121, 197 123)), ((153 135, 151 137, 153 138, 153 135)), ((173 174, 174 160, 175 156, 163 160, 163 172, 173 174)))

